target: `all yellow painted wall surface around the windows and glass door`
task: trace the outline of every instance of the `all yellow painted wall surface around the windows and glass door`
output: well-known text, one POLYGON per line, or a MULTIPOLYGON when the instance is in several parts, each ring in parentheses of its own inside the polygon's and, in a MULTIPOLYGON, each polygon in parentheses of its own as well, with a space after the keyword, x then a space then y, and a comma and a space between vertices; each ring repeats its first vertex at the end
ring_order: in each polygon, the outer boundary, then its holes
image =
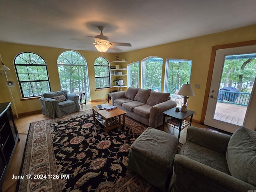
MULTIPOLYGON (((154 37, 152 37, 154 38, 154 37)), ((202 105, 204 100, 204 92, 206 89, 206 80, 208 75, 208 68, 210 63, 210 56, 212 51, 212 46, 220 44, 228 44, 234 42, 242 42, 248 40, 256 39, 256 25, 248 26, 244 28, 238 28, 235 30, 229 30, 226 32, 201 36, 198 38, 192 38, 188 40, 182 40, 178 42, 168 43, 160 46, 154 46, 150 48, 145 48, 141 50, 120 53, 119 58, 122 60, 124 58, 127 64, 143 60, 148 56, 161 57, 164 60, 163 64, 163 74, 165 70, 165 61, 167 58, 177 58, 177 59, 188 59, 192 60, 192 72, 190 84, 194 89, 194 97, 190 97, 188 100, 188 109, 196 111, 193 119, 200 121, 202 114, 202 105), (195 84, 200 84, 200 89, 195 89, 195 84)), ((21 100, 20 88, 18 86, 18 81, 16 78, 13 60, 17 54, 20 52, 34 52, 40 55, 46 61, 48 67, 48 73, 50 78, 50 84, 52 91, 60 90, 60 82, 58 77, 58 70, 56 66, 56 61, 58 56, 65 49, 59 48, 49 48, 42 46, 28 46, 21 44, 10 44, 0 42, 0 54, 2 55, 4 64, 10 68, 9 80, 14 81, 17 86, 11 88, 12 93, 15 98, 16 107, 18 113, 30 112, 41 109, 41 104, 39 99, 32 100, 21 100)), ((94 60, 100 56, 99 52, 88 52, 88 51, 78 51, 88 64, 88 74, 89 74, 89 84, 91 100, 100 100, 102 98, 107 98, 107 93, 110 90, 95 91, 95 78, 94 78, 94 60), (98 94, 98 97, 96 96, 98 94)), ((104 53, 104 57, 108 61, 115 60, 115 54, 104 53)), ((122 64, 123 66, 123 64, 122 64)), ((0 102, 8 102, 10 100, 10 94, 8 88, 4 86, 5 80, 4 76, 0 76, 0 102)), ((164 76, 162 78, 162 88, 164 86, 164 76)))

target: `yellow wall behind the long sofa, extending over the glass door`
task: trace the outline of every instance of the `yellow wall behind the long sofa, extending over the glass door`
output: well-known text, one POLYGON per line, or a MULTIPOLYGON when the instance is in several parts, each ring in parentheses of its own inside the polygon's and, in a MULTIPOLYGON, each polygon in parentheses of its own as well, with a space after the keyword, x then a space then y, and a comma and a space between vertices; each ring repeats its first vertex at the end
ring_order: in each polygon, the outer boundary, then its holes
MULTIPOLYGON (((196 111, 193 120, 200 122, 212 46, 248 40, 256 40, 256 25, 126 52, 119 54, 119 58, 126 58, 129 64, 141 62, 148 56, 161 57, 163 58, 163 74, 167 58, 192 60, 190 84, 195 96, 188 99, 188 109, 196 111), (200 89, 196 89, 195 84, 200 84, 200 89)), ((164 76, 162 77, 162 91, 163 87, 164 76)))

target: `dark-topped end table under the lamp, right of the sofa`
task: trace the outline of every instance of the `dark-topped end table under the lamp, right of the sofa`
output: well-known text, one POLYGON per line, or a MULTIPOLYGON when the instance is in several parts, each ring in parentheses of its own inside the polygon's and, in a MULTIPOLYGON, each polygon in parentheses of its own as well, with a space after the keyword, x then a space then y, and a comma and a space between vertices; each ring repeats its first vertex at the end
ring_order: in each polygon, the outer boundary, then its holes
POLYGON ((165 118, 166 117, 171 117, 171 118, 174 118, 174 119, 178 120, 179 126, 173 125, 173 127, 179 130, 178 140, 180 140, 180 132, 185 127, 191 125, 194 111, 188 110, 187 112, 182 112, 182 111, 176 112, 175 109, 176 109, 176 107, 168 109, 168 110, 163 112, 163 114, 164 114, 163 130, 164 130, 165 118), (188 117, 190 117, 190 122, 185 120, 188 117))

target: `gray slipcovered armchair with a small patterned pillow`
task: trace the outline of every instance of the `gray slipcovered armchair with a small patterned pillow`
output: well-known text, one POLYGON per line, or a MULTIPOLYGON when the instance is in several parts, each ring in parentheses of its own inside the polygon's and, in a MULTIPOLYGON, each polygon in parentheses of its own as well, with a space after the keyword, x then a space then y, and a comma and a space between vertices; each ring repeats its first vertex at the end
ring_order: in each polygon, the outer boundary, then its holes
POLYGON ((59 118, 66 114, 80 110, 79 96, 68 94, 66 90, 44 93, 40 98, 42 114, 52 118, 59 118))

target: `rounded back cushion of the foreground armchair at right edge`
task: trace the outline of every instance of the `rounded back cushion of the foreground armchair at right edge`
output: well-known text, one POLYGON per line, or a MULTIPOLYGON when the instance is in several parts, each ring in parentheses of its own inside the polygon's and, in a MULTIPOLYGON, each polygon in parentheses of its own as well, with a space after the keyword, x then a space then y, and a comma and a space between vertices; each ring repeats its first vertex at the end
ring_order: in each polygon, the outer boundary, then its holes
POLYGON ((256 132, 240 127, 231 136, 226 152, 233 177, 256 186, 256 132))

